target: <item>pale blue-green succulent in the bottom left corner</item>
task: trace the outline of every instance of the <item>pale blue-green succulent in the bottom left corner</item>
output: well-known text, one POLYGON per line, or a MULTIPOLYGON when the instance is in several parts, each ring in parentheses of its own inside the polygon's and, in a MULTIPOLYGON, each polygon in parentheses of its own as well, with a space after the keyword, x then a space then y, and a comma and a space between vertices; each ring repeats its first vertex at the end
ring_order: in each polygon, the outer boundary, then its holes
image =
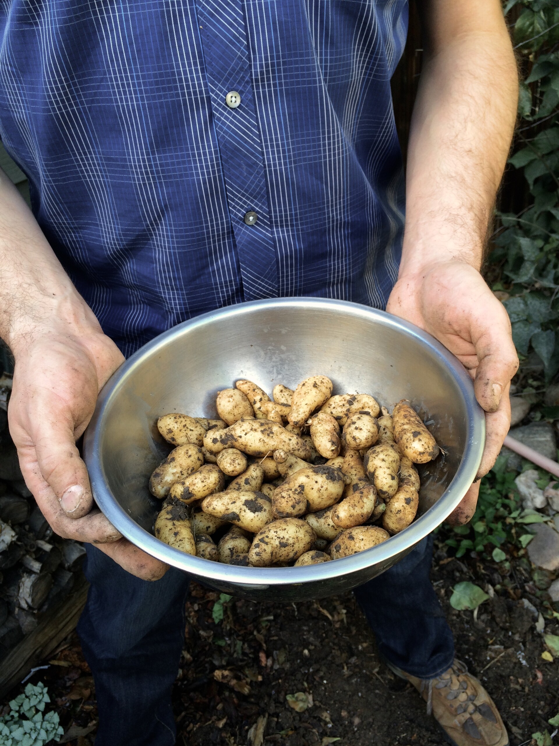
POLYGON ((48 741, 60 741, 64 730, 57 712, 43 715, 50 701, 41 681, 37 686, 28 684, 24 694, 11 700, 10 713, 0 717, 0 746, 43 746, 48 741))

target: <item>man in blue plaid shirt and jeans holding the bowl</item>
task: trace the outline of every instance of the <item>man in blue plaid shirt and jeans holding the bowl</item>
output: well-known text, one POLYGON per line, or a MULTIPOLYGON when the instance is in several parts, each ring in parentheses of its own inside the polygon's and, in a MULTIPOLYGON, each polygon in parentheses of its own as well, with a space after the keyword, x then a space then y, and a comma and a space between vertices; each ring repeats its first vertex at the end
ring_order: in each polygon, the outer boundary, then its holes
MULTIPOLYGON (((499 451, 517 356, 479 269, 514 128, 514 55, 499 0, 420 6, 404 232, 389 86, 406 0, 0 5, 1 139, 34 205, 1 180, 10 432, 51 526, 90 542, 79 631, 98 746, 174 743, 188 583, 92 510, 75 440, 123 354, 255 298, 386 305, 470 370, 487 413, 480 477, 499 451)), ((505 746, 493 702, 454 661, 430 557, 425 540, 359 601, 388 664, 455 744, 505 746)))

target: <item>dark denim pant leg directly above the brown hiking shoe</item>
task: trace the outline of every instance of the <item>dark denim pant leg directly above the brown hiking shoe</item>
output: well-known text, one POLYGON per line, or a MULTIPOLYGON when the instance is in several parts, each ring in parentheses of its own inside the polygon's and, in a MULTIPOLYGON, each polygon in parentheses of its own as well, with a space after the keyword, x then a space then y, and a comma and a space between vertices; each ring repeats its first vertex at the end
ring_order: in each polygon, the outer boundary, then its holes
POLYGON ((454 640, 429 580, 433 537, 427 536, 386 572, 354 593, 382 656, 420 679, 446 671, 454 640))

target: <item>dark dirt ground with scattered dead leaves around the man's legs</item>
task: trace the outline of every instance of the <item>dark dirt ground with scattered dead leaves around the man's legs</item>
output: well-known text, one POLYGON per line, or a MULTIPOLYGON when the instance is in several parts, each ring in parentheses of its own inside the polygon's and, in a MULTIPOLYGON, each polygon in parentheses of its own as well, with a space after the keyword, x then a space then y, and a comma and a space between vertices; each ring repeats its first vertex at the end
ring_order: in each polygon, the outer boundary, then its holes
MULTIPOLYGON (((456 560, 440 548, 432 571, 458 658, 493 695, 512 746, 531 743, 535 731, 547 728, 551 733, 547 721, 559 709, 559 661, 541 658, 542 637, 532 612, 519 601, 525 598, 543 609, 549 602, 543 587, 550 577, 540 571, 538 588, 525 562, 514 560, 510 574, 502 577, 494 562, 456 560), (449 605, 452 586, 461 580, 496 588, 493 600, 479 607, 477 621, 473 612, 458 612, 449 605)), ((380 662, 352 594, 287 606, 233 598, 224 604, 223 620, 216 624, 212 611, 218 598, 192 585, 174 686, 179 746, 443 743, 417 692, 380 662), (286 699, 297 692, 307 695, 309 706, 303 712, 292 709, 286 699)), ((546 621, 546 633, 559 634, 559 624, 546 621)), ((95 690, 77 636, 53 659, 57 665, 38 671, 31 680, 45 682, 65 731, 72 727, 68 736, 78 736, 67 742, 89 746, 97 720, 95 690)))

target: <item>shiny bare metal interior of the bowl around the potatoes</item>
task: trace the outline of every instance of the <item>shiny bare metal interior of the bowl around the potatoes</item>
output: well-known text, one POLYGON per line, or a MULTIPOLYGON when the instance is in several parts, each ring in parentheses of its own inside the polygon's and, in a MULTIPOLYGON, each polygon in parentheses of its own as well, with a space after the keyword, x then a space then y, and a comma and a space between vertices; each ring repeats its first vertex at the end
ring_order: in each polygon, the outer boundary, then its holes
POLYGON ((158 417, 217 416, 218 390, 239 378, 271 394, 276 383, 294 388, 325 374, 334 393, 369 393, 390 410, 406 398, 426 419, 445 453, 420 467, 425 513, 449 487, 473 432, 467 377, 429 340, 380 311, 309 299, 242 304, 174 327, 131 358, 101 397, 95 429, 104 482, 121 509, 153 533, 160 501, 148 479, 170 450, 158 417))

